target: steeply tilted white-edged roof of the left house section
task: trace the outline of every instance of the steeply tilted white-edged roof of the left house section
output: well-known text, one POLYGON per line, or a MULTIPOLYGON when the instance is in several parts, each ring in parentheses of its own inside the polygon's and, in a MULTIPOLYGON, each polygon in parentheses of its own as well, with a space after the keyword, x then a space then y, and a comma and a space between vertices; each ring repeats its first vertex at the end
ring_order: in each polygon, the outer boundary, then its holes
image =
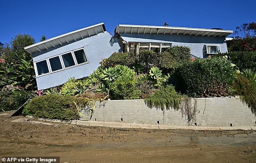
POLYGON ((98 33, 102 33, 106 31, 104 23, 99 23, 95 24, 92 26, 88 26, 83 29, 78 29, 73 32, 69 32, 57 37, 53 37, 51 39, 47 39, 45 41, 41 41, 39 43, 29 45, 25 47, 24 49, 29 52, 30 54, 37 52, 37 51, 42 51, 51 47, 55 47, 58 45, 62 45, 64 43, 69 43, 71 41, 77 41, 80 39, 84 39, 86 37, 91 37, 93 35, 97 35, 98 33))

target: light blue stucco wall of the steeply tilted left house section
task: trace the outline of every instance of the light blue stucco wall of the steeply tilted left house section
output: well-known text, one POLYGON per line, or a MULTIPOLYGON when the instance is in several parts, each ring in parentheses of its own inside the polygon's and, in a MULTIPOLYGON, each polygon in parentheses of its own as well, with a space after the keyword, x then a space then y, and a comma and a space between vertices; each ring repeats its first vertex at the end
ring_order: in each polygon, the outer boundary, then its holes
POLYGON ((75 77, 76 79, 86 77, 99 67, 101 58, 108 58, 114 52, 122 52, 119 40, 115 38, 115 42, 111 43, 111 37, 109 33, 99 33, 80 41, 63 44, 40 53, 33 53, 33 61, 36 62, 68 51, 84 48, 89 61, 87 64, 37 77, 38 90, 63 84, 69 77, 75 77))

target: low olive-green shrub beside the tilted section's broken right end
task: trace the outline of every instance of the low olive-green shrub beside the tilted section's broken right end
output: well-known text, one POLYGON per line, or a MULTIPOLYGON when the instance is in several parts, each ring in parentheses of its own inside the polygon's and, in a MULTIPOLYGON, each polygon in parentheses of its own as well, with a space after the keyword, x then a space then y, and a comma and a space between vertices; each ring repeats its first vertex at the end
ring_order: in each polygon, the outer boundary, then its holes
MULTIPOLYGON (((104 60, 103 60, 104 61, 104 60)), ((105 65, 126 65, 130 68, 135 65, 137 62, 137 55, 133 52, 126 53, 113 53, 108 59, 105 61, 105 65)))

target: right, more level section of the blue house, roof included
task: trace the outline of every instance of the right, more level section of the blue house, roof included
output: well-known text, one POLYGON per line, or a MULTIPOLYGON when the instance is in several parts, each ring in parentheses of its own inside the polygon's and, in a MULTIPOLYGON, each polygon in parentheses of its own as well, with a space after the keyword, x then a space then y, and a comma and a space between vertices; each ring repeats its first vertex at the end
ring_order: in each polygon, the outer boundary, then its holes
POLYGON ((115 37, 123 51, 139 53, 143 49, 163 52, 174 45, 190 47, 192 57, 206 58, 212 54, 227 52, 225 37, 233 31, 197 29, 172 26, 146 26, 119 24, 115 37))

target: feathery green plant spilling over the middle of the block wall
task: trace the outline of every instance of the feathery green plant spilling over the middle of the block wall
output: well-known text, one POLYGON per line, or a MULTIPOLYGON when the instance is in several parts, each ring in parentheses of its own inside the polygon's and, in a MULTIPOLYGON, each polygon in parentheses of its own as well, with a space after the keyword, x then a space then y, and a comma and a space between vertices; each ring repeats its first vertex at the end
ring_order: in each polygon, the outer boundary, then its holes
POLYGON ((183 97, 185 96, 182 96, 175 91, 174 86, 169 85, 161 87, 154 94, 149 95, 145 99, 145 102, 149 108, 155 107, 164 110, 166 107, 167 110, 170 108, 178 110, 180 108, 180 100, 183 97))

